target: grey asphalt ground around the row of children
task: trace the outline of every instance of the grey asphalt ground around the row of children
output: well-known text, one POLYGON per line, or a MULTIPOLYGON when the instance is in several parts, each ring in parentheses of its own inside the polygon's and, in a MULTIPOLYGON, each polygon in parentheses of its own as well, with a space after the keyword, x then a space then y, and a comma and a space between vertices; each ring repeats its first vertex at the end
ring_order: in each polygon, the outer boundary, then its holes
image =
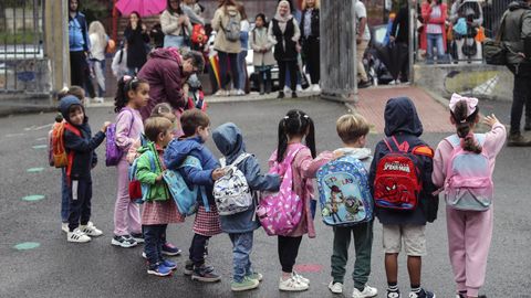
MULTIPOLYGON (((504 119, 509 113, 506 106, 492 105, 492 110, 504 119)), ((314 119, 317 151, 340 147, 335 120, 346 113, 341 104, 319 99, 219 103, 210 105, 209 114, 212 127, 233 121, 242 128, 248 151, 257 155, 266 171, 267 159, 277 146, 278 121, 291 108, 301 108, 314 119)), ((91 107, 87 114, 93 130, 103 121, 114 119, 110 107, 91 107)), ((116 170, 104 166, 104 146, 97 149, 101 162, 93 171, 92 201, 92 221, 104 235, 87 244, 67 243, 61 232, 60 171, 48 167, 46 149, 42 148, 46 145, 53 118, 53 113, 0 118, 0 297, 342 297, 332 295, 326 287, 332 230, 321 222, 320 215, 315 219, 317 237, 304 237, 296 260, 299 270, 311 280, 308 291, 285 294, 278 290, 277 240, 261 230, 256 232, 252 253, 254 268, 264 275, 259 289, 237 295, 230 291, 232 254, 230 241, 223 234, 211 238, 208 258, 222 275, 222 280, 217 284, 191 281, 183 275, 183 268, 192 236, 192 219, 168 227, 168 240, 184 251, 183 256, 174 258, 179 265, 174 276, 148 276, 140 246, 117 248, 111 245, 116 170), (44 198, 22 200, 34 194, 44 198), (14 248, 28 242, 39 246, 14 248)), ((435 148, 447 135, 428 132, 423 138, 435 148)), ((381 138, 382 135, 372 134, 368 147, 374 148, 381 138)), ((211 141, 208 146, 219 155, 211 141)), ((489 298, 531 297, 530 160, 529 148, 506 148, 497 159, 494 234, 486 286, 481 289, 489 298)), ((423 286, 434 290, 437 297, 454 298, 442 202, 439 219, 427 227, 427 246, 423 286)), ((353 247, 351 256, 354 256, 353 247)), ((378 297, 385 296, 386 288, 383 257, 382 225, 376 222, 369 285, 378 288, 378 297)), ((350 297, 353 289, 350 278, 353 259, 351 257, 347 265, 344 297, 350 297)), ((400 256, 399 262, 399 286, 403 296, 407 297, 409 283, 405 257, 400 256)))

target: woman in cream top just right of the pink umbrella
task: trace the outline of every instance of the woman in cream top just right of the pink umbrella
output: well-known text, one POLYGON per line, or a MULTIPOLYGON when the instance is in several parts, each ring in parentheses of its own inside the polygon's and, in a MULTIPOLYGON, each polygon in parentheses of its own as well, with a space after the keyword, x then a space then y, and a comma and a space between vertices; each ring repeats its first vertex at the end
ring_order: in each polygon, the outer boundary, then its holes
POLYGON ((190 46, 191 23, 180 8, 180 0, 168 0, 166 10, 160 14, 160 25, 164 36, 164 47, 177 49, 190 46))

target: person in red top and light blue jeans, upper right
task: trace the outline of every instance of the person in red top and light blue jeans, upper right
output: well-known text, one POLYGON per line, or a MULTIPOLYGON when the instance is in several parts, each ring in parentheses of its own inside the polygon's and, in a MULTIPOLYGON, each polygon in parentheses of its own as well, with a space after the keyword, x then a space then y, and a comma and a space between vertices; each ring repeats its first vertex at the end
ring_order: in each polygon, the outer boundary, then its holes
POLYGON ((425 22, 423 39, 426 40, 427 64, 434 63, 434 45, 437 47, 437 63, 446 61, 446 18, 447 7, 440 0, 427 0, 423 3, 425 22))

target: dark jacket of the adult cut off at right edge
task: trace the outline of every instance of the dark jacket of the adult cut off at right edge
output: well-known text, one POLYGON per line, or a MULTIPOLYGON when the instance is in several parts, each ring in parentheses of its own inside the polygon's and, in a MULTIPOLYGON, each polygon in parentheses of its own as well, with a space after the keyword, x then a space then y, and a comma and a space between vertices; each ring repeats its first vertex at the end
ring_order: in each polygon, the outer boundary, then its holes
POLYGON ((508 64, 531 63, 531 7, 524 1, 514 1, 506 12, 502 41, 509 49, 508 64), (518 53, 524 53, 528 58, 518 53))

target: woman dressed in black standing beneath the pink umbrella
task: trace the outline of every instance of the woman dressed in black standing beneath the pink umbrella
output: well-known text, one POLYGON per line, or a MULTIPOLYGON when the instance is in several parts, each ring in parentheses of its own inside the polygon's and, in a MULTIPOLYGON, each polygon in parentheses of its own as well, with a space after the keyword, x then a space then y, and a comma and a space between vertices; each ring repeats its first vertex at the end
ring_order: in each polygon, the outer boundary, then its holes
POLYGON ((147 45, 149 35, 146 25, 142 23, 140 14, 133 11, 129 23, 125 28, 124 36, 127 42, 127 68, 129 75, 136 75, 147 61, 147 45))

